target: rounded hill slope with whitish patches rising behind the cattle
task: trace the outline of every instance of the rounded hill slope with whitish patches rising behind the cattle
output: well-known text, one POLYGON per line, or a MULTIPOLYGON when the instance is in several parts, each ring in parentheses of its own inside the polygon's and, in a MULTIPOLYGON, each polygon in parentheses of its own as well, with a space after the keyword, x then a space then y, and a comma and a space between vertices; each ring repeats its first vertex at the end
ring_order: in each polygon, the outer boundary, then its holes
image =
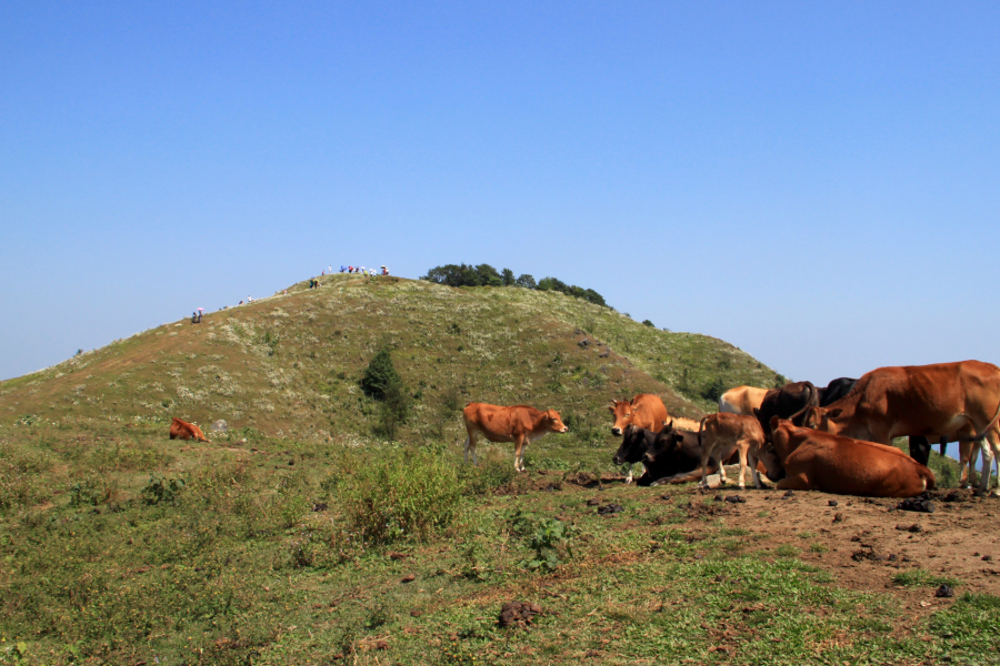
POLYGON ((657 393, 698 416, 713 411, 713 386, 777 381, 726 342, 556 292, 340 274, 2 382, 0 423, 177 415, 277 436, 367 435, 374 406, 358 379, 383 345, 416 397, 404 437, 459 436, 470 401, 556 407, 586 437, 613 397, 657 393))

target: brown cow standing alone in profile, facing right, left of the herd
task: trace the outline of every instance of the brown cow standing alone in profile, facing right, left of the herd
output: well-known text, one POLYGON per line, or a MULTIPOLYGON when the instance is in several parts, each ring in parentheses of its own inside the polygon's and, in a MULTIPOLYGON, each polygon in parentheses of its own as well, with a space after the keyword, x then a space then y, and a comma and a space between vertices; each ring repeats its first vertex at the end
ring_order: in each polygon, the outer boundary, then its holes
POLYGON ((482 435, 490 442, 513 442, 516 472, 524 471, 524 448, 529 442, 540 440, 549 433, 564 433, 569 430, 556 410, 539 412, 527 405, 501 407, 469 403, 462 410, 462 418, 468 433, 466 462, 469 462, 471 451, 472 462, 479 464, 479 458, 476 457, 476 438, 482 435))

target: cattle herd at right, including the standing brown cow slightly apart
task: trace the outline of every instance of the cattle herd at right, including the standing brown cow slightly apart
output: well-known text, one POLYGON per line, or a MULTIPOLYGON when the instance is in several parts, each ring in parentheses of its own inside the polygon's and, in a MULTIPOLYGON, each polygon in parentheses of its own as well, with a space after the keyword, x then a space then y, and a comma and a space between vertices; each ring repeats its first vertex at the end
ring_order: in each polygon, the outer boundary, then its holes
MULTIPOLYGON (((1000 367, 980 361, 880 367, 859 380, 842 377, 818 389, 794 382, 781 389, 739 386, 719 400, 719 413, 700 422, 672 418, 651 394, 613 401, 611 433, 622 436, 616 464, 642 463, 639 485, 683 483, 739 461, 740 487, 749 467, 757 487, 763 472, 780 490, 818 490, 876 497, 910 497, 934 486, 927 467, 930 443, 941 455, 959 443, 961 485, 982 453, 977 494, 987 492, 1000 455, 1000 367), (890 446, 910 438, 910 455, 890 446)), ((524 447, 550 432, 569 428, 554 410, 470 403, 462 412, 466 461, 476 457, 481 434, 514 443, 514 468, 524 468, 524 447)), ((632 475, 629 473, 628 481, 632 475)))

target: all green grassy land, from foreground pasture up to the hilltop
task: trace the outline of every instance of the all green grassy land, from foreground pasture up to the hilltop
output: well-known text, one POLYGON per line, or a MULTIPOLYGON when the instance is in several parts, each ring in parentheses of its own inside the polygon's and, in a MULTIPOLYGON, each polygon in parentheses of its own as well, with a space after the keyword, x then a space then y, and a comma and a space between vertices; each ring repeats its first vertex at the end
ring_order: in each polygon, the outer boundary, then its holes
MULTIPOLYGON (((0 383, 0 664, 896 664, 996 650, 989 595, 884 630, 900 604, 841 585, 819 559, 831 546, 792 534, 791 503, 751 492, 741 517, 690 485, 663 498, 620 483, 609 398, 652 392, 698 416, 720 386, 776 381, 724 342, 558 293, 336 275, 0 383), (396 442, 376 434, 358 385, 382 347, 413 400, 396 442), (532 443, 527 474, 509 445, 481 444, 482 465, 463 465, 472 400, 556 407, 572 430, 532 443), (232 430, 171 442, 172 415, 232 430), (791 526, 767 533, 779 511, 791 526), (497 626, 513 599, 546 610, 530 630, 497 626), (928 634, 958 638, 948 652, 928 634)), ((938 579, 904 573, 913 594, 938 579)))

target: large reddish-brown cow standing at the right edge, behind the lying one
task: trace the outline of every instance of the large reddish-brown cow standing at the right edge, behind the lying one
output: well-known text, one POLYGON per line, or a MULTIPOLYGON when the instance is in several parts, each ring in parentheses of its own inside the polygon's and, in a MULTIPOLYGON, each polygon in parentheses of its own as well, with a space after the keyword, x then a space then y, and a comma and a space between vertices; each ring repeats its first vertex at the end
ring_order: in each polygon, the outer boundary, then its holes
MULTIPOLYGON (((867 442, 923 436, 971 443, 983 455, 978 494, 986 492, 1000 454, 1000 367, 981 361, 879 367, 844 397, 810 407, 804 425, 867 442)), ((964 463, 966 461, 961 461, 964 463)))

